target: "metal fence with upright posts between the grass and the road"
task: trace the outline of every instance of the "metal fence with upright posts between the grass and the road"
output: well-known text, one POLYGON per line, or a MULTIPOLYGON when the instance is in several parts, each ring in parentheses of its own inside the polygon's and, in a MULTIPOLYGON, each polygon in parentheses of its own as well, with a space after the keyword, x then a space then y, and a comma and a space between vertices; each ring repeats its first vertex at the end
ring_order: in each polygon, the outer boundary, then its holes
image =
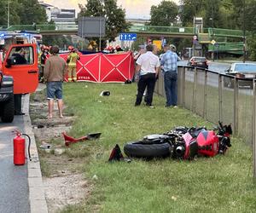
MULTIPOLYGON (((256 79, 255 79, 256 80, 256 79)), ((218 72, 178 66, 178 105, 213 124, 232 124, 234 134, 253 145, 253 176, 256 177, 256 81, 236 78, 218 72)), ((160 78, 155 92, 165 96, 160 78)))

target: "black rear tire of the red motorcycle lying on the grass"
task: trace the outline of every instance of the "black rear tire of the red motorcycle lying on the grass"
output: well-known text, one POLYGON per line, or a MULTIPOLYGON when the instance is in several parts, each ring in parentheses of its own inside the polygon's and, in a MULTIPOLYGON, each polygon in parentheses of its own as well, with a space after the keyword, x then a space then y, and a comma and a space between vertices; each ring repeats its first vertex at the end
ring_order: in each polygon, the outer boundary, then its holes
POLYGON ((134 158, 165 158, 170 156, 171 146, 169 143, 127 143, 124 152, 128 157, 134 158))

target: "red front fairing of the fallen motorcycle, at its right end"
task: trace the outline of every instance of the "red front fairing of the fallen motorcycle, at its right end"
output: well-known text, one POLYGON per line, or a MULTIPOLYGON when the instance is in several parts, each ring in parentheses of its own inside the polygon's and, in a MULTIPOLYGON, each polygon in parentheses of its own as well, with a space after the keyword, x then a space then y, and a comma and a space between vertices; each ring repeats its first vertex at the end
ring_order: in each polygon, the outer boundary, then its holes
POLYGON ((218 154, 219 141, 214 131, 201 131, 196 141, 199 155, 213 157, 218 154))

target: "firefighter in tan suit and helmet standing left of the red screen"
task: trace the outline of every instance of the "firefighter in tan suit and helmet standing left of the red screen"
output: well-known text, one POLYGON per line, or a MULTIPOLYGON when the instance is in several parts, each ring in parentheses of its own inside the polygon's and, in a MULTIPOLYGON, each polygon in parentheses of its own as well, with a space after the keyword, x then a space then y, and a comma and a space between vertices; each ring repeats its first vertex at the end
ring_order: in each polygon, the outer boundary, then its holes
POLYGON ((68 47, 69 54, 67 56, 67 80, 68 82, 76 82, 77 81, 77 60, 80 59, 80 55, 73 46, 68 47))

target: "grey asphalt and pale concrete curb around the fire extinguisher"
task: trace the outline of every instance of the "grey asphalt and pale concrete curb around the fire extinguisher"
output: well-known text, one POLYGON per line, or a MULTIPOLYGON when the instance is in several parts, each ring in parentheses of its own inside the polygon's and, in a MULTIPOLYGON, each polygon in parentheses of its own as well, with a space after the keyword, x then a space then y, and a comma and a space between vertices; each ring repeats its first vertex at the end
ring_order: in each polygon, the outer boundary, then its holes
POLYGON ((46 213, 38 150, 29 117, 29 95, 22 98, 22 107, 24 116, 15 116, 12 124, 0 123, 0 212, 46 213), (26 133, 32 140, 32 161, 23 166, 13 164, 13 130, 26 133))

